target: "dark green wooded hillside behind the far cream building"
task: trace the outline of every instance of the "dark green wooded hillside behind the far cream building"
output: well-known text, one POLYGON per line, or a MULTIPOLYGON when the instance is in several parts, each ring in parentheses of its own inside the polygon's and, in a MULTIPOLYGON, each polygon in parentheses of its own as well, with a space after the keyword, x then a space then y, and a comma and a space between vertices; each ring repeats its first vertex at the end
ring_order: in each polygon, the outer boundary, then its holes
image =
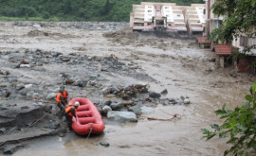
MULTIPOLYGON (((188 6, 203 0, 148 0, 188 6)), ((0 20, 129 21, 141 0, 0 0, 0 20)))

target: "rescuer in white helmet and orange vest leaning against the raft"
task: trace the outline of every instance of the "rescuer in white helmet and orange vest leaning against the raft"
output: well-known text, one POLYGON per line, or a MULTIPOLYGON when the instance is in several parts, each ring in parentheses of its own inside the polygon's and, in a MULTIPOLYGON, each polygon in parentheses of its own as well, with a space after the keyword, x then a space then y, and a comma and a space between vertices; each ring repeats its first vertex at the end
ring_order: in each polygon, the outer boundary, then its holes
POLYGON ((65 108, 65 120, 68 126, 69 130, 72 130, 72 117, 74 116, 75 118, 76 113, 77 113, 77 108, 80 106, 80 103, 78 101, 75 102, 74 105, 68 106, 67 108, 65 108))

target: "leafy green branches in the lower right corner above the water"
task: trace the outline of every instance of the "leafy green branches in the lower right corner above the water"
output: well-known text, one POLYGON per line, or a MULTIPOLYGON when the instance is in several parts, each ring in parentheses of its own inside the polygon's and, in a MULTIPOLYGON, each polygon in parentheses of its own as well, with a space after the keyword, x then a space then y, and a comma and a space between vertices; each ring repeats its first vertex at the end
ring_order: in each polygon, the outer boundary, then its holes
POLYGON ((256 149, 256 82, 249 89, 250 95, 246 95, 246 102, 234 110, 226 109, 226 105, 221 110, 216 111, 216 115, 221 115, 220 119, 225 119, 222 125, 211 125, 212 131, 202 129, 203 138, 207 140, 214 136, 219 138, 229 137, 227 144, 232 146, 226 150, 224 155, 249 155, 256 149))

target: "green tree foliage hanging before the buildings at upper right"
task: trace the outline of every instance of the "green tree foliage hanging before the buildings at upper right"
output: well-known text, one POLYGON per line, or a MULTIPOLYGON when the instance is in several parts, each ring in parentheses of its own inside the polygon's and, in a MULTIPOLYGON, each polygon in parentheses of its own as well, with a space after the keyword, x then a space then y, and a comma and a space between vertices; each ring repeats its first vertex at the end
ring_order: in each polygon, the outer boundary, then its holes
POLYGON ((253 27, 256 26, 256 0, 218 0, 213 4, 212 11, 225 19, 221 26, 212 31, 211 40, 227 43, 236 40, 240 34, 255 37, 253 27))

